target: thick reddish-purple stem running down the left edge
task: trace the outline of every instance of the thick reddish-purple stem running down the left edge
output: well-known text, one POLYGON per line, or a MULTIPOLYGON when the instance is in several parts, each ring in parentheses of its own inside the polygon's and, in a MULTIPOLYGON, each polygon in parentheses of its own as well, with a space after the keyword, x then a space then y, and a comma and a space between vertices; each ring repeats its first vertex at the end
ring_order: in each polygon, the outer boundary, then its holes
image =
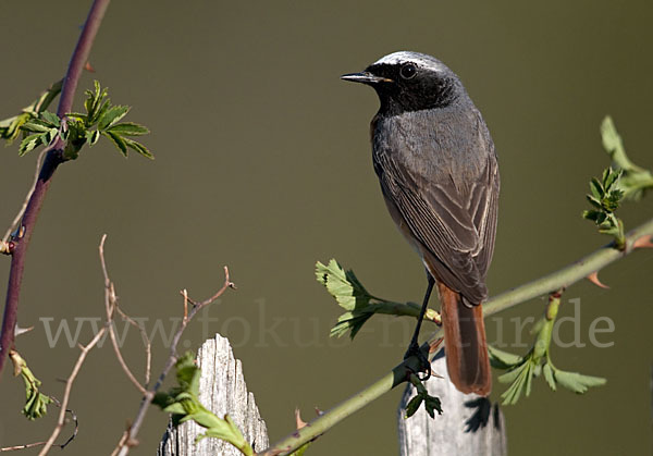
MULTIPOLYGON (((88 60, 93 42, 98 33, 104 12, 109 7, 110 0, 95 0, 84 23, 84 28, 67 67, 63 79, 63 88, 59 100, 57 115, 64 119, 71 112, 73 99, 77 89, 79 76, 84 70, 84 64, 88 60)), ((7 301, 4 305, 4 315, 2 319, 2 332, 0 334, 0 373, 4 367, 7 355, 14 346, 14 328, 17 322, 19 299, 21 285, 23 283, 23 269, 25 268, 25 256, 27 246, 32 238, 32 232, 36 225, 38 213, 44 204, 48 188, 52 181, 52 175, 57 168, 63 163, 64 143, 59 137, 51 146, 47 147, 46 158, 40 169, 38 180, 34 186, 34 192, 29 197, 23 220, 19 226, 19 235, 12 239, 14 248, 11 251, 11 268, 9 272, 9 284, 7 286, 7 301)))

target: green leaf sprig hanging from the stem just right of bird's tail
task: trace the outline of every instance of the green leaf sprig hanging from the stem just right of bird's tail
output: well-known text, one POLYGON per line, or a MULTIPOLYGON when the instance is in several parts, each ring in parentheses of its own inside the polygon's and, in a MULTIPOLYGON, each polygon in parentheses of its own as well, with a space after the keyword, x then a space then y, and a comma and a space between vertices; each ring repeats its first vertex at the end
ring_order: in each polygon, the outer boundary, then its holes
POLYGON ((553 391, 556 391, 559 384, 567 390, 582 394, 590 386, 605 384, 605 379, 583 375, 577 372, 567 372, 553 365, 550 349, 551 335, 559 305, 560 294, 554 293, 550 295, 544 316, 531 330, 531 334, 535 334, 533 346, 525 356, 489 347, 492 367, 507 370, 506 373, 498 377, 500 382, 510 384, 501 395, 504 405, 516 404, 522 394, 528 397, 531 393, 533 378, 541 374, 543 374, 544 380, 546 380, 546 383, 553 391))

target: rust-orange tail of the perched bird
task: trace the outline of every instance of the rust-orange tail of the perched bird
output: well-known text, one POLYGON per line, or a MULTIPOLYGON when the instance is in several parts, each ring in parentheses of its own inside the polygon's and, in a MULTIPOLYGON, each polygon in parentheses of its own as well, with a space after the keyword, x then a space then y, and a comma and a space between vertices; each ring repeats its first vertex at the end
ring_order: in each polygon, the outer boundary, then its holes
POLYGON ((492 373, 483 310, 480 305, 467 307, 459 293, 442 283, 438 288, 449 378, 458 391, 486 396, 492 390, 492 373))

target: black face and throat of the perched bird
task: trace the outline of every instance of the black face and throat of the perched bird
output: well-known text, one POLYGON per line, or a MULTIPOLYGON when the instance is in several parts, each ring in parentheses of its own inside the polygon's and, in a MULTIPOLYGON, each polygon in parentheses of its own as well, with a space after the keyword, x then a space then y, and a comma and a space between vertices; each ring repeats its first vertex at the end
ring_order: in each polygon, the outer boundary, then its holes
POLYGON ((380 112, 385 114, 444 108, 459 96, 460 83, 451 71, 434 71, 405 62, 373 64, 365 73, 383 78, 369 85, 379 94, 380 112))

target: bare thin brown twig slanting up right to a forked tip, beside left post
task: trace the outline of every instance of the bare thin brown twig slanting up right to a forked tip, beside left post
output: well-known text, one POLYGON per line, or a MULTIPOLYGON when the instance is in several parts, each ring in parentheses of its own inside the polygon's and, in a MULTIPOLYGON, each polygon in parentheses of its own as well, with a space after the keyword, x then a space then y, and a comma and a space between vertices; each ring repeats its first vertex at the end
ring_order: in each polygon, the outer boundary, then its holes
POLYGON ((140 431, 140 428, 143 426, 143 422, 145 420, 145 415, 147 414, 147 410, 149 409, 149 406, 152 402, 152 398, 155 397, 155 394, 159 391, 159 389, 163 384, 163 380, 165 380, 165 377, 168 375, 168 372, 170 372, 170 369, 172 369, 172 367, 174 366, 174 363, 177 360, 176 347, 177 347, 177 344, 180 343, 180 338, 182 337, 182 334, 184 333, 184 330, 186 329, 186 326, 188 325, 190 320, 193 320, 193 318, 197 315, 198 311, 200 311, 202 308, 210 305, 215 299, 218 299, 220 296, 222 296, 222 294, 227 288, 235 288, 235 287, 236 286, 230 280, 229 268, 225 266, 224 267, 224 283, 223 283, 222 287, 210 298, 198 303, 198 301, 190 299, 190 297, 188 297, 188 293, 185 289, 180 292, 180 294, 184 297, 184 319, 182 320, 182 324, 177 329, 177 331, 174 334, 174 337, 172 340, 172 344, 170 346, 170 356, 168 357, 168 360, 165 361, 165 366, 163 367, 163 370, 159 374, 159 379, 157 380, 157 383, 143 395, 143 398, 140 400, 140 407, 138 408, 138 411, 136 412, 136 418, 134 419, 133 424, 121 435, 121 439, 120 439, 118 445, 111 453, 112 455, 126 456, 130 453, 130 449, 132 448, 132 446, 136 446, 138 444, 137 436, 138 436, 138 432, 140 431), (190 303, 190 305, 192 305, 190 310, 188 310, 188 303, 190 303))

